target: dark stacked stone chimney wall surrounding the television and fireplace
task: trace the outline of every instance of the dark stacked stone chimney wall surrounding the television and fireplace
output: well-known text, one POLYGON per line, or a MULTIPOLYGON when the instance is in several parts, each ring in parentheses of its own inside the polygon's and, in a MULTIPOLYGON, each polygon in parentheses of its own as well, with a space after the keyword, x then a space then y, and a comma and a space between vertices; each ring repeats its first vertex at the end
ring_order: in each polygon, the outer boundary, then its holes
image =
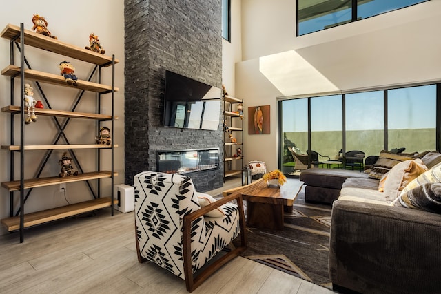
MULTIPOLYGON (((222 85, 221 1, 125 0, 125 183, 156 171, 156 151, 218 147, 218 131, 163 127, 165 70, 222 85)), ((220 117, 220 112, 219 112, 220 117)), ((188 174, 197 191, 223 185, 223 165, 188 174)))

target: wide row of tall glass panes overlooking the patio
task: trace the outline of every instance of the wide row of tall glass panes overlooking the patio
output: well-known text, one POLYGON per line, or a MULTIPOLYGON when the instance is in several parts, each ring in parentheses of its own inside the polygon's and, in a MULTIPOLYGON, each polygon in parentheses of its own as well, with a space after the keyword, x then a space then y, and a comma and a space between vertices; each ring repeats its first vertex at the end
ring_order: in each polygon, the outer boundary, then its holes
POLYGON ((284 172, 296 169, 287 147, 299 154, 316 151, 331 160, 338 159, 340 150, 362 151, 365 158, 383 149, 436 150, 441 134, 438 88, 423 85, 280 100, 280 167, 284 172))

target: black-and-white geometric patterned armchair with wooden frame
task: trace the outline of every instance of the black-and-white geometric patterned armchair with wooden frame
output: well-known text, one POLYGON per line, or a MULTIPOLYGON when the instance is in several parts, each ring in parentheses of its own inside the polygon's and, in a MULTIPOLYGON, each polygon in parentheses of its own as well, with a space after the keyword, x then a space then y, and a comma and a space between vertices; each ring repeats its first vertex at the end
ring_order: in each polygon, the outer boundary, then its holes
POLYGON ((240 193, 201 208, 193 182, 187 176, 144 171, 134 176, 134 186, 139 262, 154 262, 181 277, 187 291, 192 292, 245 250, 245 215, 240 193), (219 207, 225 216, 206 216, 219 207), (239 247, 216 257, 194 278, 198 269, 239 234, 239 247))

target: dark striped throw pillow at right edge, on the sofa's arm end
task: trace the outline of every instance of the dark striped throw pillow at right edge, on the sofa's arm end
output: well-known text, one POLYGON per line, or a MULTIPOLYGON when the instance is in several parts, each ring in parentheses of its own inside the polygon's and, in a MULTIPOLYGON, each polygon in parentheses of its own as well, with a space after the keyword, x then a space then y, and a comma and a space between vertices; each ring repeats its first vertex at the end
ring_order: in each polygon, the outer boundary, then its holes
POLYGON ((398 197, 391 206, 441 213, 441 183, 427 182, 398 197))

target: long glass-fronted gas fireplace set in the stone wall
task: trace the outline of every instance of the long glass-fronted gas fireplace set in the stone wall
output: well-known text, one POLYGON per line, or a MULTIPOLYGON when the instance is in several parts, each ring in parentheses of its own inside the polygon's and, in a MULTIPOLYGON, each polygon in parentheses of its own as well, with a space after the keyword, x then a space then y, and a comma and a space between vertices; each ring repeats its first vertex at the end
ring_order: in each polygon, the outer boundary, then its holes
POLYGON ((158 171, 168 174, 187 174, 219 169, 219 149, 157 151, 158 171))

